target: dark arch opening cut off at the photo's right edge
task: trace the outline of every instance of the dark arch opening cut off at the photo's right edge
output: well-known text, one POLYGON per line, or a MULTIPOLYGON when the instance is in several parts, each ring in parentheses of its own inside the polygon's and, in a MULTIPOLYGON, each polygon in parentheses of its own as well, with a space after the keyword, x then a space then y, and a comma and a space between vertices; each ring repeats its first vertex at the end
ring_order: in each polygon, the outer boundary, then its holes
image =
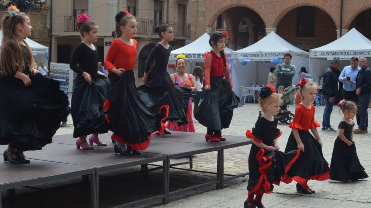
POLYGON ((371 25, 369 24, 370 19, 371 9, 363 11, 354 18, 349 26, 349 30, 356 28, 362 35, 371 40, 371 25))

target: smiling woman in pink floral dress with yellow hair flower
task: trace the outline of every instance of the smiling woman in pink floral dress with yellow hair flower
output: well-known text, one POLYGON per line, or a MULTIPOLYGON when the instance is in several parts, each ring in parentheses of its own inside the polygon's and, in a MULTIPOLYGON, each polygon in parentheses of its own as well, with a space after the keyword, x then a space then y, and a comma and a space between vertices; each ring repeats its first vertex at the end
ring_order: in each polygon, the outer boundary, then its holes
MULTIPOLYGON (((180 87, 190 88, 193 91, 197 90, 197 83, 192 74, 185 73, 187 64, 185 63, 185 55, 180 54, 177 56, 175 62, 177 73, 170 74, 171 81, 180 87)), ((166 128, 170 131, 184 131, 184 132, 196 132, 193 125, 193 113, 192 113, 192 98, 187 100, 187 120, 188 124, 178 125, 176 122, 168 121, 166 128)))

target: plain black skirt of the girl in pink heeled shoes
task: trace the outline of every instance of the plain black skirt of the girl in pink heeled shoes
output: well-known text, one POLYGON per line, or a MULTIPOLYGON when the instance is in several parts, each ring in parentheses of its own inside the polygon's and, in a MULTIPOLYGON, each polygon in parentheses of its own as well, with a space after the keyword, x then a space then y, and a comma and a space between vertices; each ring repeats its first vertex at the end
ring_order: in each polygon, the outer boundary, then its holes
POLYGON ((109 80, 98 74, 91 75, 93 84, 77 76, 71 101, 73 137, 106 133, 110 129, 103 109, 109 90, 109 80))

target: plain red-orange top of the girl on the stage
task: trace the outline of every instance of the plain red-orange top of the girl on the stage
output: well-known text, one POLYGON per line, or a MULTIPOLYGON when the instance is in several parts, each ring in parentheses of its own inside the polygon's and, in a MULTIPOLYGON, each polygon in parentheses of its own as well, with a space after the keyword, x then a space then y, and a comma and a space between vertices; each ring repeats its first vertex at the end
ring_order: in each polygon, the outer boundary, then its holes
POLYGON ((132 71, 135 66, 135 58, 137 56, 137 41, 134 40, 134 44, 129 46, 119 39, 112 41, 109 46, 106 59, 104 60, 104 68, 111 72, 111 68, 123 68, 125 70, 132 71), (115 64, 113 63, 115 61, 115 64))

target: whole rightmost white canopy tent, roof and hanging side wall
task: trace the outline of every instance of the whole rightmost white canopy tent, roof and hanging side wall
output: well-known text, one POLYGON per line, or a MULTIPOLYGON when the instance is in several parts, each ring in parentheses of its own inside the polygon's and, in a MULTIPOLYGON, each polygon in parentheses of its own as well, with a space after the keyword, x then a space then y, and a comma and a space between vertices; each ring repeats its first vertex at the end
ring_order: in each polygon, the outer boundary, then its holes
POLYGON ((309 73, 315 80, 319 80, 326 68, 331 65, 333 58, 342 60, 339 67, 342 71, 345 66, 350 65, 353 56, 367 57, 367 62, 371 61, 371 41, 355 28, 327 45, 309 50, 309 73))

